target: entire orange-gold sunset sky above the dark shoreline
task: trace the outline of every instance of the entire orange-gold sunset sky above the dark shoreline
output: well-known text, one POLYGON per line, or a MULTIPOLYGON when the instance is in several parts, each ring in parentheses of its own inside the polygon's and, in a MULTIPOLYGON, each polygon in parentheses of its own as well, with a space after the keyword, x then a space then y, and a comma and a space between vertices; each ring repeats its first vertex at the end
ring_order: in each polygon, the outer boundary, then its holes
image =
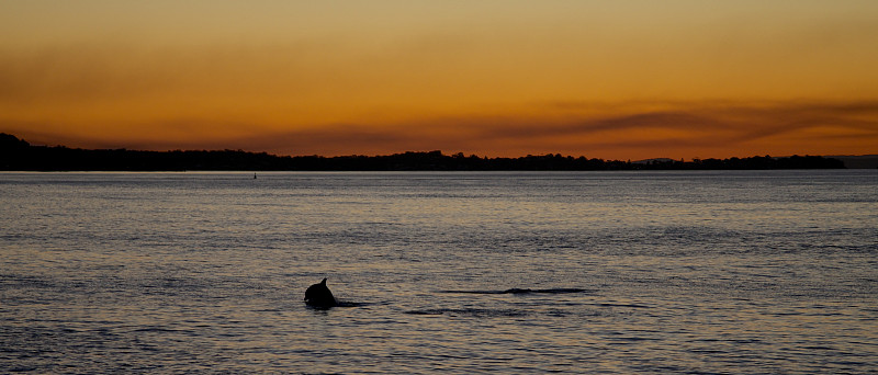
POLYGON ((0 35, 32 144, 878 154, 874 0, 4 0, 0 35))

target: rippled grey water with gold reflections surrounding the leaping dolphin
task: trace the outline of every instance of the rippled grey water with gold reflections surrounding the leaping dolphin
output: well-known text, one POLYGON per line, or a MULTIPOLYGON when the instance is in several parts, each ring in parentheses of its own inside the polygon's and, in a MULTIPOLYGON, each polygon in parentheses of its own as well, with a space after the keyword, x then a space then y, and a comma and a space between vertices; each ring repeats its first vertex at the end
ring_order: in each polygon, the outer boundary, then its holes
POLYGON ((0 173, 0 373, 878 371, 878 173, 0 173), (328 277, 345 306, 306 307, 328 277))

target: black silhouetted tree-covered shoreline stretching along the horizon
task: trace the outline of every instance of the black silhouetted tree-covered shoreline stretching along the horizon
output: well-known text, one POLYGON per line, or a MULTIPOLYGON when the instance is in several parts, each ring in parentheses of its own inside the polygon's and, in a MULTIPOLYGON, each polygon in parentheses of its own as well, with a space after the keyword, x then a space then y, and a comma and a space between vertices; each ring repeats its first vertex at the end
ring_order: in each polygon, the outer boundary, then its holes
MULTIPOLYGON (((241 150, 138 151, 32 146, 0 133, 0 170, 5 171, 603 171, 837 169, 837 158, 769 156, 691 161, 620 161, 558 155, 487 158, 441 151, 390 156, 274 156, 241 150)), ((875 168, 875 167, 870 167, 875 168)))

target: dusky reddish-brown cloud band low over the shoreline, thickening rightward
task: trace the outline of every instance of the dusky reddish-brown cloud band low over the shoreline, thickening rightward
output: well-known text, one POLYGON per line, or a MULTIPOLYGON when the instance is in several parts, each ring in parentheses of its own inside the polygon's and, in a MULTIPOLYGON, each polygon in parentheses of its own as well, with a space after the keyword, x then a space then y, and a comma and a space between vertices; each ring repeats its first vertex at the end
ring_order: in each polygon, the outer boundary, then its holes
POLYGON ((875 152, 878 103, 689 105, 597 117, 468 116, 345 124, 240 139, 292 155, 441 149, 489 156, 562 152, 601 158, 875 152))

